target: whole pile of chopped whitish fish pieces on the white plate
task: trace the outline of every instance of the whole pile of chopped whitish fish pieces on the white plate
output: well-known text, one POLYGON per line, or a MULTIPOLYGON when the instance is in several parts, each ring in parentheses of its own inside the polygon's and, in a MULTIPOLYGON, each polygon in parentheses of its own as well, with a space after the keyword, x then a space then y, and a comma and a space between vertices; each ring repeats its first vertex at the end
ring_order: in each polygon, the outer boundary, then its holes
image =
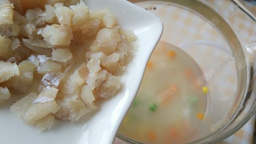
POLYGON ((83 0, 10 1, 0 0, 0 103, 26 95, 11 112, 41 132, 115 96, 136 36, 110 10, 83 0))

